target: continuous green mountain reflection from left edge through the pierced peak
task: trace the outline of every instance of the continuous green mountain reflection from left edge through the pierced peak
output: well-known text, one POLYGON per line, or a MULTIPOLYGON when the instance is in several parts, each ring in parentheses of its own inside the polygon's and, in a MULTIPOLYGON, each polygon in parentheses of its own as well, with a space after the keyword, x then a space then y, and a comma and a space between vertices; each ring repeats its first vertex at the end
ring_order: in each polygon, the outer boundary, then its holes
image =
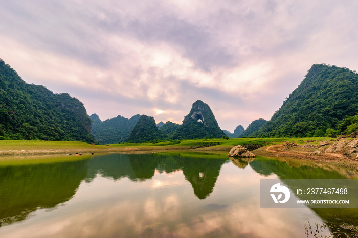
POLYGON ((195 196, 204 199, 212 193, 226 160, 181 154, 109 154, 91 160, 0 166, 0 227, 25 220, 37 209, 69 201, 82 180, 88 183, 97 175, 141 182, 151 179, 155 171, 182 170, 195 196))

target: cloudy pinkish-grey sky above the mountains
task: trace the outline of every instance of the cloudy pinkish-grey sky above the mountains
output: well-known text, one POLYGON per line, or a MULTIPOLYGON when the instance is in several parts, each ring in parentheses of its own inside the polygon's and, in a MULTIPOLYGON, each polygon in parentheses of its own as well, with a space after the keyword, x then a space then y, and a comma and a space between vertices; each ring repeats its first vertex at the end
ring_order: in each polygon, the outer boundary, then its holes
POLYGON ((102 121, 270 120, 312 64, 358 71, 358 1, 0 0, 0 58, 102 121))

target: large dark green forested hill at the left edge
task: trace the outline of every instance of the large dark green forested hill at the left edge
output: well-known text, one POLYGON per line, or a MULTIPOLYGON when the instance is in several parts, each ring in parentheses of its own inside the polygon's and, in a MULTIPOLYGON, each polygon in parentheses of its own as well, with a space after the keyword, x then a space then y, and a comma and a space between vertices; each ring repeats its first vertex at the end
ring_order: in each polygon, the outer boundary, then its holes
POLYGON ((94 142, 91 120, 78 99, 27 84, 2 59, 0 139, 94 142))

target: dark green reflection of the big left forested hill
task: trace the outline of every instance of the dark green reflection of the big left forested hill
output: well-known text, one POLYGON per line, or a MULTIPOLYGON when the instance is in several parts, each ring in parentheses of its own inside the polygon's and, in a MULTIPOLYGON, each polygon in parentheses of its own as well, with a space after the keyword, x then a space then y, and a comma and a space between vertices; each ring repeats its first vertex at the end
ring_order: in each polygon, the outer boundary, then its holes
POLYGON ((0 227, 75 195, 88 160, 0 167, 0 227))

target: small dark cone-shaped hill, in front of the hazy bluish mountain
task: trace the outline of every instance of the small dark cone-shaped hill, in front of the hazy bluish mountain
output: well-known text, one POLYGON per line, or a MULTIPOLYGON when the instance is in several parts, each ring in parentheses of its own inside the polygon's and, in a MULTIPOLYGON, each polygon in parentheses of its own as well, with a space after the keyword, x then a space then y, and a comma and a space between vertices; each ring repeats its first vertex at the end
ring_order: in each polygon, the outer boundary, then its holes
POLYGON ((156 126, 154 118, 152 116, 141 115, 127 141, 142 143, 157 139, 162 139, 162 133, 156 126))

